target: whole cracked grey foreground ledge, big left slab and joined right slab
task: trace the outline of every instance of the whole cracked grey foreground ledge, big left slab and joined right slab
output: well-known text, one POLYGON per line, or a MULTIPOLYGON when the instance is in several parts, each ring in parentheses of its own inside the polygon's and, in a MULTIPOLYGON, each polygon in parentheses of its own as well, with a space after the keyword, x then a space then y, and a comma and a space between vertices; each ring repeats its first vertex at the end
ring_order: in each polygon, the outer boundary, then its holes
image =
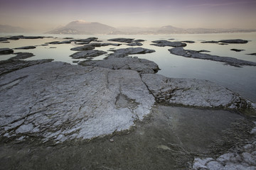
POLYGON ((63 62, 3 74, 0 82, 0 137, 14 140, 33 136, 43 142, 64 142, 128 130, 151 113, 155 100, 206 108, 256 108, 210 81, 63 62))

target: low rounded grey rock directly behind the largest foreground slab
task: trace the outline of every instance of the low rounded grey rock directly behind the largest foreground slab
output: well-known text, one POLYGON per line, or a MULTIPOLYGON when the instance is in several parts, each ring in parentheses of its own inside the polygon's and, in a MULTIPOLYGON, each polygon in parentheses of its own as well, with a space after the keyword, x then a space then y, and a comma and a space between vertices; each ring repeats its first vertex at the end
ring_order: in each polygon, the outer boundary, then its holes
POLYGON ((108 60, 82 61, 78 64, 83 66, 105 67, 109 69, 132 69, 140 74, 154 74, 159 70, 156 63, 138 57, 112 58, 108 60))

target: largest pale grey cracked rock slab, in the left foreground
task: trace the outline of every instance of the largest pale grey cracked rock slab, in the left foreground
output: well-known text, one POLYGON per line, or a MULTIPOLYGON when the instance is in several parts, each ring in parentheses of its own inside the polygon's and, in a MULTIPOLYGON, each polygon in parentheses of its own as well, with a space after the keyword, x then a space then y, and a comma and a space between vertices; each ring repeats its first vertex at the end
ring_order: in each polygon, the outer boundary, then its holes
POLYGON ((132 70, 49 62, 4 74, 0 82, 1 137, 90 139, 129 129, 154 104, 132 70))

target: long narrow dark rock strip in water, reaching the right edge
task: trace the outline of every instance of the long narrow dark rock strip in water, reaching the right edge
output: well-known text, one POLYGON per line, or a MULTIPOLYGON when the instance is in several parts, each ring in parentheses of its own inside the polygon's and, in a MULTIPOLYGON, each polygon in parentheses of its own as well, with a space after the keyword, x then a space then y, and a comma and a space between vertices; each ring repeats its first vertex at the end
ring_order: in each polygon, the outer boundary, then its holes
POLYGON ((256 66, 255 62, 248 62, 245 60, 238 60, 233 57, 220 57, 217 55, 203 54, 195 50, 184 50, 183 47, 176 47, 169 49, 169 52, 174 55, 181 55, 183 57, 191 57, 202 60, 213 60, 216 62, 225 62, 235 67, 242 67, 243 65, 256 66))

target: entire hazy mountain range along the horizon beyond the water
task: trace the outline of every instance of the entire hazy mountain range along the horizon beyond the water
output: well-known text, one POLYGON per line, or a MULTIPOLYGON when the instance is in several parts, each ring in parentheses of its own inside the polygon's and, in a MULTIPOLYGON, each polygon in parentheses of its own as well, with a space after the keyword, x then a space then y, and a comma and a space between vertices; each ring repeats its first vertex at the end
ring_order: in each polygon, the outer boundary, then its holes
MULTIPOLYGON (((0 25, 0 33, 23 33, 25 29, 13 26, 0 25)), ((72 21, 66 26, 50 30, 48 34, 108 34, 108 35, 146 35, 146 34, 195 34, 195 33, 250 33, 256 29, 209 29, 209 28, 176 28, 174 26, 162 26, 155 28, 114 28, 97 22, 72 21)))

